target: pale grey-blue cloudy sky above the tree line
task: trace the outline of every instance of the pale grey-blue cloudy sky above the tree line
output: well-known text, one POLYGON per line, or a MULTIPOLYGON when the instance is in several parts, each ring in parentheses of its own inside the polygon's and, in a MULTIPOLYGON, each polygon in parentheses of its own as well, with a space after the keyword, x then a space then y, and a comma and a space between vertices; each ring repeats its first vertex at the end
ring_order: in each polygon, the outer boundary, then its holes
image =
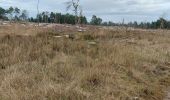
MULTIPOLYGON (((69 0, 40 0, 39 9, 67 13, 65 2, 69 0)), ((80 0, 83 14, 91 19, 97 15, 103 21, 125 22, 151 22, 159 17, 170 20, 170 0, 80 0)), ((37 14, 37 0, 0 0, 0 7, 10 6, 25 9, 29 16, 37 14)), ((72 13, 72 11, 69 11, 72 13)))

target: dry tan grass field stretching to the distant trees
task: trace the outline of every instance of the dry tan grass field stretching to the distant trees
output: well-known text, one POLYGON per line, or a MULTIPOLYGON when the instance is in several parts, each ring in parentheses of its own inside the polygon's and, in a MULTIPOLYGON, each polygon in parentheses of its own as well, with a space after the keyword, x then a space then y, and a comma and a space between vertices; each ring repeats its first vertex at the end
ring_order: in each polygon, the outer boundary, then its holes
POLYGON ((170 31, 0 26, 0 100, 164 100, 170 31))

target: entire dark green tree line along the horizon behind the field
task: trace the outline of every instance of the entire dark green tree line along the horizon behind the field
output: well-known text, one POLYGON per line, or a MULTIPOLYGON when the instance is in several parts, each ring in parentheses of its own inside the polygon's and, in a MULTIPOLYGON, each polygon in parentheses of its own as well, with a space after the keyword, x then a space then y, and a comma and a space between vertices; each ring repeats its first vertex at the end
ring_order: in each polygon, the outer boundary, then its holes
MULTIPOLYGON (((77 12, 76 12, 77 13, 77 12)), ((17 7, 9 7, 8 9, 4 9, 0 7, 0 20, 5 21, 29 21, 29 22, 39 22, 39 23, 59 23, 59 24, 90 24, 90 25, 101 25, 101 26, 127 26, 127 27, 135 27, 135 28, 144 28, 144 29, 170 29, 170 21, 159 18, 153 22, 129 22, 125 24, 122 23, 114 23, 112 21, 103 22, 102 18, 93 15, 91 20, 88 22, 86 16, 77 16, 72 14, 62 14, 58 12, 42 12, 37 14, 37 16, 29 17, 27 10, 21 10, 17 7)))

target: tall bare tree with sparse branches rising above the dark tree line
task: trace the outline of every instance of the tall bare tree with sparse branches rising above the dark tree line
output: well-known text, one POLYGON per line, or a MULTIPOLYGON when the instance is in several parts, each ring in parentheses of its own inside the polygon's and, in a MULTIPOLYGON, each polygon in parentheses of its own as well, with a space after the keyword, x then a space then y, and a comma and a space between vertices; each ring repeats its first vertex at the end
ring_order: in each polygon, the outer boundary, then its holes
MULTIPOLYGON (((80 0, 71 0, 66 2, 66 10, 70 10, 71 8, 73 8, 74 14, 75 14, 75 24, 78 23, 78 12, 81 9, 80 7, 80 0)), ((82 10, 80 11, 80 13, 82 13, 82 10)))

